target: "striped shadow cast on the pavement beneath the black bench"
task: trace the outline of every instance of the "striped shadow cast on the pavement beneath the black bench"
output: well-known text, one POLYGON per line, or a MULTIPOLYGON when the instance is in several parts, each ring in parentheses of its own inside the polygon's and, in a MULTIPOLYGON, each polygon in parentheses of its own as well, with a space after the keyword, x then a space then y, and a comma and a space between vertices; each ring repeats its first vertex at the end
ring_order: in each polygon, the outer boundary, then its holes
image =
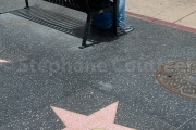
MULTIPOLYGON (((71 36, 77 37, 81 39, 82 43, 86 24, 85 21, 79 21, 65 14, 62 15, 38 6, 30 6, 29 9, 20 9, 16 11, 12 11, 10 13, 29 20, 32 22, 41 24, 44 26, 53 28, 56 30, 69 34, 71 36)), ((111 42, 117 39, 118 36, 114 36, 112 30, 102 30, 96 28, 95 26, 90 26, 87 39, 87 47, 103 42, 111 42)))

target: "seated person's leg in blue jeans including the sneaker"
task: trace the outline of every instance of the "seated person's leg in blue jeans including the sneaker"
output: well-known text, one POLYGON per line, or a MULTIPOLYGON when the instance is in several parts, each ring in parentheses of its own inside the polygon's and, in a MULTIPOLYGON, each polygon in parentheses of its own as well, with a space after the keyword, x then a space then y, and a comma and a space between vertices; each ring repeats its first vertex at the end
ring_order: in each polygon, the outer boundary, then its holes
POLYGON ((117 25, 118 25, 118 34, 126 34, 132 31, 134 28, 132 26, 125 26, 125 3, 126 0, 118 0, 117 1, 117 25))

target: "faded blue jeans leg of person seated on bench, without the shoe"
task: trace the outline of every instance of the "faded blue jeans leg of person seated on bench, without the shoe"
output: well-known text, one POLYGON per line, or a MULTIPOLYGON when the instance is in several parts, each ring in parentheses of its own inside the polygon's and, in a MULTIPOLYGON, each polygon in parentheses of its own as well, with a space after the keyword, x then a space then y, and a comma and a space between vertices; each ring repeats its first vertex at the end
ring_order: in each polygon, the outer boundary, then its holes
POLYGON ((117 0, 117 25, 124 26, 126 0, 117 0))

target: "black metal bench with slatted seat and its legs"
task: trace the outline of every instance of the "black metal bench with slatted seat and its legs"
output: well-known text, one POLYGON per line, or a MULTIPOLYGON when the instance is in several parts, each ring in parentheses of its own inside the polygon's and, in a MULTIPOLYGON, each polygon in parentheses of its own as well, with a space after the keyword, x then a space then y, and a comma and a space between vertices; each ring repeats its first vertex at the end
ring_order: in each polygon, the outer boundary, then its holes
MULTIPOLYGON (((91 23, 91 15, 105 13, 107 11, 114 12, 113 13, 113 35, 117 36, 117 0, 113 0, 113 4, 111 6, 101 9, 96 12, 91 11, 87 0, 44 0, 44 1, 59 4, 62 6, 66 6, 66 8, 77 10, 77 11, 81 11, 81 12, 84 12, 87 14, 86 26, 85 26, 85 31, 84 31, 84 36, 83 36, 83 42, 82 42, 82 46, 79 47, 79 49, 84 49, 89 46, 89 44, 86 44, 86 40, 88 38, 88 31, 89 31, 89 27, 90 27, 90 23, 91 23)), ((26 3, 25 9, 29 9, 28 0, 25 0, 25 3, 26 3)))

